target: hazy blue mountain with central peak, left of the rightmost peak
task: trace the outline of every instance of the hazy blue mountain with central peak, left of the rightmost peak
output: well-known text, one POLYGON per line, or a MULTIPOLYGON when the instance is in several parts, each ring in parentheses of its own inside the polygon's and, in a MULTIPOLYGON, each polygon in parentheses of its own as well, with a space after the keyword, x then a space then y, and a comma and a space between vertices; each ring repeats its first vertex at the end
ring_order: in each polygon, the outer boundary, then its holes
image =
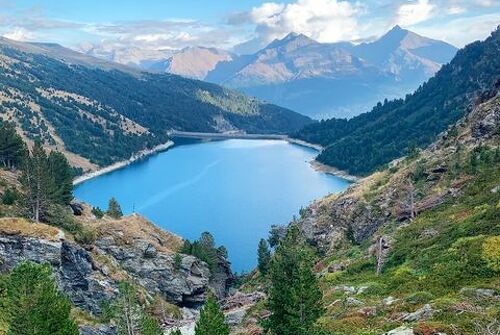
POLYGON ((377 101, 394 78, 343 48, 291 33, 254 55, 219 63, 206 80, 321 117, 366 108, 366 97, 377 101))

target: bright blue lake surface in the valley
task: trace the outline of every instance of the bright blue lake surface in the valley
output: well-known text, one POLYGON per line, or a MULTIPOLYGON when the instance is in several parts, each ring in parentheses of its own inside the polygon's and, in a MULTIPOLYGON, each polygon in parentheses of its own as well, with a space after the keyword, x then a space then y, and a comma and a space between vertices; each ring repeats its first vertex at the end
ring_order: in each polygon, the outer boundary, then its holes
POLYGON ((275 140, 178 145, 84 182, 75 196, 103 209, 114 196, 124 213, 135 209, 191 240, 209 231, 227 247, 233 270, 251 270, 271 225, 287 224, 312 200, 349 185, 312 169, 316 154, 275 140))

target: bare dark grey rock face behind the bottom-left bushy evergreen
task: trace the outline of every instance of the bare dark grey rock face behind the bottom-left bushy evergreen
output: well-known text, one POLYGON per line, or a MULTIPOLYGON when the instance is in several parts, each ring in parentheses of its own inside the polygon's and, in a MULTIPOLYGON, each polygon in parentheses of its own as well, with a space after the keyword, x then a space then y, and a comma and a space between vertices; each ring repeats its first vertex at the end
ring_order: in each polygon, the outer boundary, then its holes
POLYGON ((97 269, 87 251, 66 241, 0 234, 0 272, 23 261, 49 263, 75 306, 100 314, 101 302, 114 296, 117 282, 97 269))

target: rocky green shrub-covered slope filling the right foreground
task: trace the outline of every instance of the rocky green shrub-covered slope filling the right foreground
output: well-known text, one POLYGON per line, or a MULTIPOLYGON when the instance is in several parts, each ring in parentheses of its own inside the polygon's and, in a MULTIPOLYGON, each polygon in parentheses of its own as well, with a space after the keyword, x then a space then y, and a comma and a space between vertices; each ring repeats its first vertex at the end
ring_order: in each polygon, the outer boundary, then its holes
MULTIPOLYGON (((325 308, 311 334, 498 334, 499 129, 496 89, 426 150, 301 210, 291 227, 316 250, 325 308)), ((244 289, 272 295, 272 271, 244 289)), ((269 306, 256 305, 240 334, 269 306)))

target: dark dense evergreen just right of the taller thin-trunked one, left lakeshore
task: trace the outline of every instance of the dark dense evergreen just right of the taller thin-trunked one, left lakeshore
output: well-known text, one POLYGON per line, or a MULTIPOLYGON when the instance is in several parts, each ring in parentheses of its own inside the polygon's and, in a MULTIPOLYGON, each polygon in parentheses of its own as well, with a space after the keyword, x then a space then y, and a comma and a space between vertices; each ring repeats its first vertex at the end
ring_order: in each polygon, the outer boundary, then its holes
POLYGON ((73 200, 73 173, 66 157, 52 151, 48 158, 50 173, 54 181, 54 201, 61 205, 69 205, 73 200))

